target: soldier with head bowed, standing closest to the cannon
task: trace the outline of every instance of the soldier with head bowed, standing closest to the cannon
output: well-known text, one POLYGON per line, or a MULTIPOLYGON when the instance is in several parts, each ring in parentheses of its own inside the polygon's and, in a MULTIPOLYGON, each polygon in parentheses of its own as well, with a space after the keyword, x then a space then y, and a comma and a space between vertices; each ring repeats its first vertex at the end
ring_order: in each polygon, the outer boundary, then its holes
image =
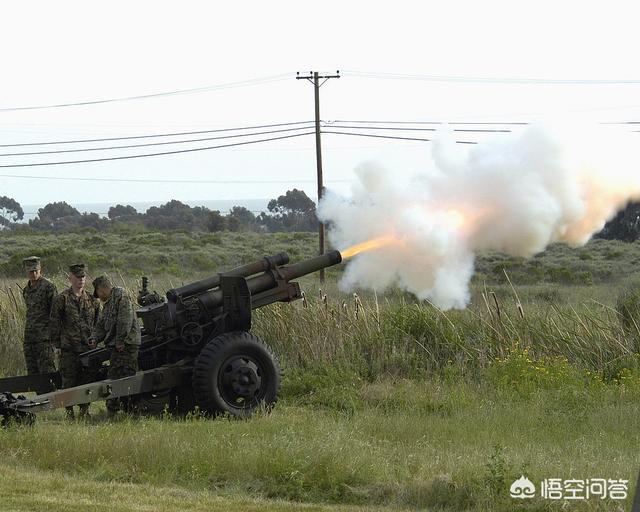
MULTIPOLYGON (((140 326, 134 305, 122 288, 114 287, 106 276, 93 281, 93 296, 103 302, 102 313, 96 323, 93 338, 111 348, 109 378, 121 379, 138 371, 140 326)), ((107 400, 107 412, 113 416, 119 408, 129 409, 126 399, 107 400)))

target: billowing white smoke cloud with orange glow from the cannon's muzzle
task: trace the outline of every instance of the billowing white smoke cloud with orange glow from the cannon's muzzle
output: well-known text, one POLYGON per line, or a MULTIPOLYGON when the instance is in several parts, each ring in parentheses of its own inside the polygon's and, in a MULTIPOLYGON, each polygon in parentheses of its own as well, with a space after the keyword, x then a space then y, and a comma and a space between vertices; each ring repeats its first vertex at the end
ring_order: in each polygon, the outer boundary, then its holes
POLYGON ((359 166, 351 197, 329 191, 319 216, 340 250, 385 236, 394 243, 350 258, 341 286, 399 286, 464 307, 477 251, 527 257, 555 241, 581 245, 640 197, 634 135, 530 125, 461 147, 445 132, 423 173, 359 166))

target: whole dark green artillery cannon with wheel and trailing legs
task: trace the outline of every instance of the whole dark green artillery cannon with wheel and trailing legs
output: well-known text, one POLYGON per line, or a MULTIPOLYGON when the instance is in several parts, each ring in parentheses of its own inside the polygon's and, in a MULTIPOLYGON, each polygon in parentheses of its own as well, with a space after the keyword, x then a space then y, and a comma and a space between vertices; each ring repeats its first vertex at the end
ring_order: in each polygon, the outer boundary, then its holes
POLYGON ((169 290, 166 300, 143 279, 137 316, 142 321, 140 371, 106 379, 109 349, 81 354, 99 367, 99 380, 68 389, 57 373, 0 379, 0 423, 32 421, 33 413, 128 397, 136 410, 250 416, 278 398, 281 370, 270 348, 250 333, 252 310, 302 297, 294 280, 342 261, 338 251, 292 265, 286 253, 169 290), (25 398, 13 393, 36 391, 25 398))

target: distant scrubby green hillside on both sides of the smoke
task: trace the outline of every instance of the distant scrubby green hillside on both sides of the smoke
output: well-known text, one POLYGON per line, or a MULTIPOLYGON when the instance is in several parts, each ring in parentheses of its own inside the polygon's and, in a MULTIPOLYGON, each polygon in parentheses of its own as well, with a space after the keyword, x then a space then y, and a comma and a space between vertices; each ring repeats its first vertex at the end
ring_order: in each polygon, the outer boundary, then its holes
MULTIPOLYGON (((316 254, 317 234, 189 231, 0 232, 0 277, 22 275, 22 258, 38 254, 47 272, 64 272, 70 262, 85 261, 92 271, 188 278, 216 272, 279 251, 291 260, 316 254)), ((533 258, 480 254, 475 281, 517 284, 611 283, 640 273, 640 242, 596 239, 580 248, 553 244, 533 258)))

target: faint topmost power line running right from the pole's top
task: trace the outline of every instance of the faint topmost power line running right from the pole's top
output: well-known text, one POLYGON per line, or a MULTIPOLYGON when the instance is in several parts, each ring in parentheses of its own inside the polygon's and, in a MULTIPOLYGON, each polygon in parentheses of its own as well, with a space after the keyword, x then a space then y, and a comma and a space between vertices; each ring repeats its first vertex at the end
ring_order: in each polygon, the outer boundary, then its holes
POLYGON ((542 85, 638 85, 637 79, 547 79, 547 78, 506 78, 506 77, 474 77, 454 75, 412 75, 405 73, 384 73, 369 71, 343 71, 347 76, 358 78, 374 78, 384 80, 420 80, 425 82, 457 82, 487 84, 542 84, 542 85))

